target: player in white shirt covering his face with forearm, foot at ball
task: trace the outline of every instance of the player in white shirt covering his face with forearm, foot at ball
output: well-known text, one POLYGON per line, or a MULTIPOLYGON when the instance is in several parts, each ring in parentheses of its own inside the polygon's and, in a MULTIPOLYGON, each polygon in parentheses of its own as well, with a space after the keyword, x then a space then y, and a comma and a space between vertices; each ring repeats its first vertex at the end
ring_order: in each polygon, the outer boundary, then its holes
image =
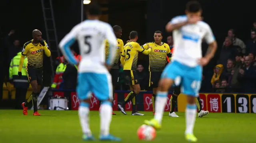
POLYGON ((174 55, 172 62, 164 69, 156 97, 156 114, 154 119, 145 123, 156 129, 161 127, 162 116, 167 99, 168 89, 173 83, 181 82, 182 93, 187 95, 186 131, 188 141, 197 141, 193 134, 196 120, 196 97, 202 81, 202 66, 208 64, 217 49, 212 30, 208 24, 202 22, 202 9, 197 1, 186 4, 186 16, 177 16, 166 25, 168 32, 173 31, 174 55), (202 39, 209 44, 210 52, 202 57, 202 39))

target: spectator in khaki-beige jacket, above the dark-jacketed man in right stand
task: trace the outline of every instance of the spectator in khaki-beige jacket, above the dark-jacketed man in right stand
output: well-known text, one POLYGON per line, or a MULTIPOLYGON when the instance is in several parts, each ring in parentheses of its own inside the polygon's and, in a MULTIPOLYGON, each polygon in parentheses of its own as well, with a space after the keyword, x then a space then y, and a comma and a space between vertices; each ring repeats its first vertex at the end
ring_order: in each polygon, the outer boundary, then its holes
MULTIPOLYGON (((242 53, 246 53, 246 45, 241 39, 236 37, 234 29, 228 30, 228 37, 232 39, 232 44, 234 46, 239 46, 242 49, 242 53)), ((225 45, 225 42, 223 43, 223 45, 225 45)))

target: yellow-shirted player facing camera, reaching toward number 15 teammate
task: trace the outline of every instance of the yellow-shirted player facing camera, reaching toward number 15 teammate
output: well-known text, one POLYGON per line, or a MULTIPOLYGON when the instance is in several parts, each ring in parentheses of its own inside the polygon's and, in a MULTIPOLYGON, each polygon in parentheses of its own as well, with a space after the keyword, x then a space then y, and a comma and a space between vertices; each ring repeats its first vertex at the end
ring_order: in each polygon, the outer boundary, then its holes
POLYGON ((152 47, 152 51, 149 53, 149 86, 153 88, 153 96, 152 96, 152 107, 153 114, 155 112, 155 97, 156 90, 158 87, 158 82, 160 80, 161 74, 164 71, 164 67, 166 65, 166 56, 169 60, 172 57, 172 53, 170 51, 170 47, 168 44, 162 42, 163 35, 161 31, 155 31, 154 33, 154 42, 146 43, 142 47, 144 49, 148 49, 148 45, 152 47))

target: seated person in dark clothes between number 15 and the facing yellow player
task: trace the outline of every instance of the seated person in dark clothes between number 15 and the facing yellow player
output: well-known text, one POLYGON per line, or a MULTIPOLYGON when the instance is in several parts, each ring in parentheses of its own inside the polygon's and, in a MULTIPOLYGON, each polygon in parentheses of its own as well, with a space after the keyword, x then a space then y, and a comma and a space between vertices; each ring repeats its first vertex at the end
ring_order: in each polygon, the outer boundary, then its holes
POLYGON ((146 86, 148 86, 149 80, 147 80, 147 74, 144 71, 144 67, 142 65, 137 66, 138 80, 140 83, 140 89, 145 90, 146 86))

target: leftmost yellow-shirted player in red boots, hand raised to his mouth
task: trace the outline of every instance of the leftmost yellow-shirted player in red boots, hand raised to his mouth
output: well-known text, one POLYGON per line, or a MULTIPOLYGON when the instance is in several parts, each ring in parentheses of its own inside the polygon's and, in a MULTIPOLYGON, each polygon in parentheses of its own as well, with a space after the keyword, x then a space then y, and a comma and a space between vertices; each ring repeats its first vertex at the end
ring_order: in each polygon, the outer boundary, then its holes
POLYGON ((24 44, 22 55, 20 57, 20 66, 18 75, 21 76, 22 65, 25 56, 28 58, 26 69, 28 72, 28 79, 32 86, 33 92, 26 102, 22 103, 23 114, 28 114, 28 108, 34 106, 34 116, 40 116, 37 112, 37 97, 40 92, 38 85, 42 85, 42 70, 43 70, 43 59, 44 53, 47 57, 50 57, 51 52, 48 49, 46 41, 42 39, 42 33, 39 30, 32 32, 33 39, 24 44))

